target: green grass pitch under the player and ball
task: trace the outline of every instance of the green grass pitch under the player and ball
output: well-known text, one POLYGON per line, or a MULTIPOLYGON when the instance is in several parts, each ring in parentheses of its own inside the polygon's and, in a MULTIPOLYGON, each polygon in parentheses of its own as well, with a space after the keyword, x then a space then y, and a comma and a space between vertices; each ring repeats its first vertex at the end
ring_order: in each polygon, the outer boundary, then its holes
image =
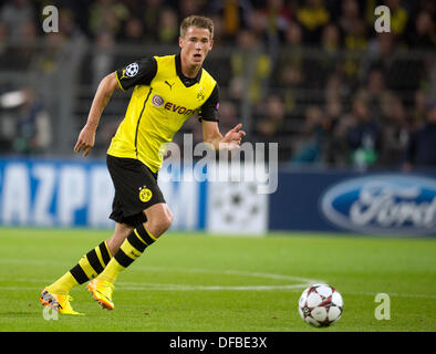
POLYGON ((44 320, 42 288, 111 231, 0 228, 0 332, 434 332, 436 239, 271 233, 169 232, 118 277, 114 311, 84 285, 72 291, 84 316, 44 320), (342 319, 314 329, 298 313, 311 282, 335 287, 342 319), (391 319, 376 320, 377 293, 391 319))

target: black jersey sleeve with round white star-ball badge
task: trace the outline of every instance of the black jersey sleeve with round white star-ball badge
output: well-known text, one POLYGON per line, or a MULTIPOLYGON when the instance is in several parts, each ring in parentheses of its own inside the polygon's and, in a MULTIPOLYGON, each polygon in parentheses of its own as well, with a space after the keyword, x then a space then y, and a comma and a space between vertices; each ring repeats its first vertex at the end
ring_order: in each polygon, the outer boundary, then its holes
POLYGON ((116 77, 123 90, 136 85, 149 85, 157 72, 157 62, 152 58, 143 58, 116 71, 116 77))

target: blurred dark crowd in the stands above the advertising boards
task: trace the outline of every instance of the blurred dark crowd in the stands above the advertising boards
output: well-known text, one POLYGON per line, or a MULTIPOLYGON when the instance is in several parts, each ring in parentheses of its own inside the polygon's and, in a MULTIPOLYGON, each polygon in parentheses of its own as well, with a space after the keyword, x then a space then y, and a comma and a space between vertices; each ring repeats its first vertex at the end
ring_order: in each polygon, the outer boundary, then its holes
MULTIPOLYGON (((0 154, 73 156, 100 80, 178 52, 180 20, 204 14, 221 132, 242 122, 247 140, 278 142, 282 166, 436 167, 435 13, 427 0, 0 1, 0 154), (380 4, 388 33, 374 30, 380 4), (43 31, 46 6, 59 32, 43 31)), ((93 157, 128 98, 106 106, 93 157)), ((196 118, 184 133, 201 140, 196 118)))

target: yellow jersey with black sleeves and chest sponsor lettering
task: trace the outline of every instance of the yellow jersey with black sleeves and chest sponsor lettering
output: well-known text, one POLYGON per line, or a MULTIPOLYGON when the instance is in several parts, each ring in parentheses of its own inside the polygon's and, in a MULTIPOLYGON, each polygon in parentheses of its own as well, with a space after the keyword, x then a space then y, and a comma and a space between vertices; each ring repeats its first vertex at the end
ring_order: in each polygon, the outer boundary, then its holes
POLYGON ((108 155, 139 159, 157 173, 165 144, 190 116, 218 121, 217 82, 203 67, 194 79, 184 76, 179 54, 138 60, 117 70, 116 77, 122 90, 134 90, 108 155))

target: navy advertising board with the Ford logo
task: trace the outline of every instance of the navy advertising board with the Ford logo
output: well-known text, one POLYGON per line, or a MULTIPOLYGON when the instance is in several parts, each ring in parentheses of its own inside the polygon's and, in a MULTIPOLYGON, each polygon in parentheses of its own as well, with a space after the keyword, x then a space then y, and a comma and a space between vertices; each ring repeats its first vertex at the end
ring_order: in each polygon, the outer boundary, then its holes
POLYGON ((281 171, 269 229, 436 236, 436 173, 281 171))

